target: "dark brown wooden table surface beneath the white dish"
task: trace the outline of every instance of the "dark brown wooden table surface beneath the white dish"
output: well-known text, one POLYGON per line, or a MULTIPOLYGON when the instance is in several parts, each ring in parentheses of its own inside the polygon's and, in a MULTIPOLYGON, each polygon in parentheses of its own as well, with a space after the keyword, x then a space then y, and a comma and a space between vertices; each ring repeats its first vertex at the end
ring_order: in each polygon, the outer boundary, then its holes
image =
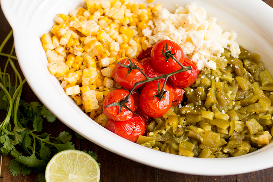
MULTIPOLYGON (((268 5, 273 7, 273 0, 263 0, 268 5)), ((0 12, 0 42, 2 42, 5 36, 10 31, 10 26, 6 21, 2 11, 0 12)), ((5 53, 9 53, 12 46, 12 40, 8 42, 7 46, 3 50, 5 53)), ((3 62, 0 58, 0 63, 3 62)), ((3 68, 3 66, 2 66, 3 68)), ((19 67, 18 67, 19 68, 19 67)), ((39 99, 34 95, 30 87, 25 84, 22 92, 21 99, 31 102, 38 101, 39 99)), ((3 118, 5 113, 0 112, 0 119, 3 118), (2 117, 1 117, 2 115, 2 117)), ((132 160, 126 159, 108 150, 105 150, 89 140, 80 140, 75 135, 73 130, 69 129, 59 120, 54 123, 49 123, 44 126, 44 132, 52 133, 52 136, 57 136, 57 133, 61 131, 68 131, 72 134, 72 142, 75 144, 78 150, 93 150, 98 154, 98 162, 101 163, 101 181, 102 182, 269 182, 273 181, 273 168, 260 170, 247 174, 231 175, 231 176, 196 176, 188 174, 180 174, 169 172, 166 170, 160 170, 157 168, 149 167, 132 160)), ((0 182, 34 182, 37 181, 37 174, 31 174, 28 176, 12 176, 8 170, 8 163, 11 157, 1 157, 2 165, 0 182)), ((261 161, 262 162, 262 161, 261 161)), ((187 164, 185 164, 187 165, 187 164)), ((223 164, 224 165, 224 164, 223 164)), ((236 164, 234 164, 236 165, 236 164)))

